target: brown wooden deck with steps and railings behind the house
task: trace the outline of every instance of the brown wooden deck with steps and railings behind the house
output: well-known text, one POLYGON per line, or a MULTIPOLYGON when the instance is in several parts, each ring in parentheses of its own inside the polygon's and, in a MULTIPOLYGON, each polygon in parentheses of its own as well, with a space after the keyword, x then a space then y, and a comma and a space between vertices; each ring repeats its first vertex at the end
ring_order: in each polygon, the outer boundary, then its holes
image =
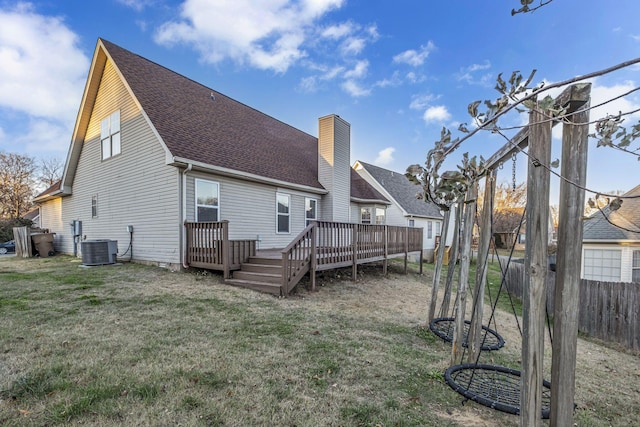
POLYGON ((223 271, 225 282, 286 296, 307 274, 315 289, 315 272, 351 267, 419 253, 422 273, 422 229, 317 221, 286 248, 257 250, 252 240, 229 240, 228 221, 185 222, 189 266, 223 271))

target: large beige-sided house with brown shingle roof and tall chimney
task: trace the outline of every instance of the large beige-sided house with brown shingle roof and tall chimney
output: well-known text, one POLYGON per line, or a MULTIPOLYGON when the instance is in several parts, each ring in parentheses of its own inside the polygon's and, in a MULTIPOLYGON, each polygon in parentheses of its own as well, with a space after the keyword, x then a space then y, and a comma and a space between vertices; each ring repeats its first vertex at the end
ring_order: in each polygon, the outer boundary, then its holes
POLYGON ((132 236, 134 260, 179 267, 185 221, 228 220, 229 238, 260 249, 286 247, 311 220, 385 223, 389 201, 349 152, 336 115, 316 138, 99 39, 62 180, 36 201, 57 251, 74 252, 79 220, 81 239, 117 240, 123 254, 132 236))

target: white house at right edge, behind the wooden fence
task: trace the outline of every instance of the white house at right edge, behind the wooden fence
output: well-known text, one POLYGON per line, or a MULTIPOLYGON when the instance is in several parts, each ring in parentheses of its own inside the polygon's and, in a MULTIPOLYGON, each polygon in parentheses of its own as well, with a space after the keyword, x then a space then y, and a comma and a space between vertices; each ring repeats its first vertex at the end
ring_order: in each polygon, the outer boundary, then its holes
POLYGON ((620 209, 607 206, 584 221, 583 279, 640 283, 640 185, 621 197, 620 209))

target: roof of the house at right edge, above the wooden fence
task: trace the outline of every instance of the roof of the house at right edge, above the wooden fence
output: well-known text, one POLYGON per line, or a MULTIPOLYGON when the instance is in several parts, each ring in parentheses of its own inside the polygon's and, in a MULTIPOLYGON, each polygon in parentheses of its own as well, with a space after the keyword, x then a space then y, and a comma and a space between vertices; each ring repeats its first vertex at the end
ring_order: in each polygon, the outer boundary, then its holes
POLYGON ((584 221, 584 241, 598 240, 638 240, 640 232, 640 185, 623 194, 622 206, 616 211, 611 211, 609 206, 591 215, 584 221), (635 198, 628 198, 635 197, 635 198), (603 213, 613 224, 603 217, 603 213), (615 224, 615 225, 614 225, 615 224), (626 230, 625 230, 626 229, 626 230))

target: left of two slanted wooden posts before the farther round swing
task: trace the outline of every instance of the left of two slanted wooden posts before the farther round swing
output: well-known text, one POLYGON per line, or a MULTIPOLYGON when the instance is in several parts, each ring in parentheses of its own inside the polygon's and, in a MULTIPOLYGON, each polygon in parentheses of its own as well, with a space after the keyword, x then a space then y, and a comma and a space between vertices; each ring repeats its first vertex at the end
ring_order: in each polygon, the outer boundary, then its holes
POLYGON ((464 317, 467 306, 467 288, 469 287, 469 265, 471 263, 471 238, 476 216, 476 199, 478 198, 478 182, 473 181, 467 189, 464 202, 464 230, 460 245, 460 276, 456 293, 455 327, 451 346, 451 365, 462 363, 462 344, 464 342, 464 317))

